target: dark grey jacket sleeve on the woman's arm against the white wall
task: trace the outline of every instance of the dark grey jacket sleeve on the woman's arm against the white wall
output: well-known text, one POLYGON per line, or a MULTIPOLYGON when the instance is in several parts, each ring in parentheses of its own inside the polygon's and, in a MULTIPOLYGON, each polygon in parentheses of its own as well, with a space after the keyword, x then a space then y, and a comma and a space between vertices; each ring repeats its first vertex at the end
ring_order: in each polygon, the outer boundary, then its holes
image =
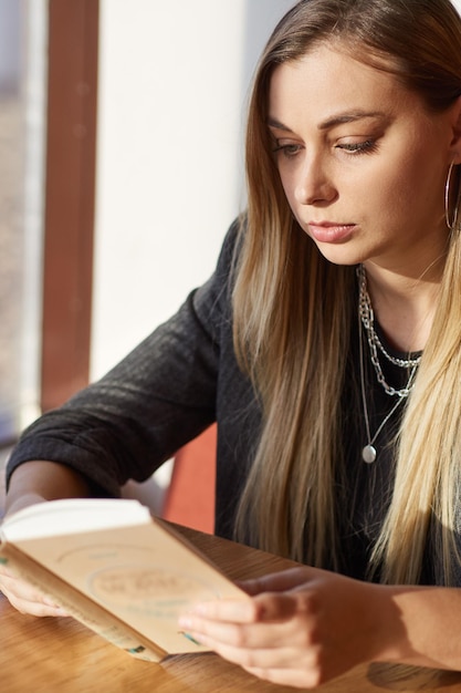
POLYGON ((216 421, 222 325, 231 320, 235 227, 211 278, 178 312, 99 381, 46 412, 22 434, 8 466, 49 459, 87 477, 98 495, 117 496, 148 478, 216 421))

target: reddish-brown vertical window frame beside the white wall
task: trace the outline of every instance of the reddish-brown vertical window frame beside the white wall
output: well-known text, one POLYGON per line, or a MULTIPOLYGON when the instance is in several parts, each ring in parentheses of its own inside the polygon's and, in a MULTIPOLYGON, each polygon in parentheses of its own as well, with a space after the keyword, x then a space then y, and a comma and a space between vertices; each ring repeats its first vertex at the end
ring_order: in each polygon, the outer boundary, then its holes
POLYGON ((90 376, 98 0, 49 0, 42 411, 90 376))

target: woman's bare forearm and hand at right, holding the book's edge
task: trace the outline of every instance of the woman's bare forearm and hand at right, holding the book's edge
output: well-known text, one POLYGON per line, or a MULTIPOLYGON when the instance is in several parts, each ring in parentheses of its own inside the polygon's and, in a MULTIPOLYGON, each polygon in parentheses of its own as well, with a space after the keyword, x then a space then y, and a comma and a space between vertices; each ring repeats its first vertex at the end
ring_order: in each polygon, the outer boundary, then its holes
POLYGON ((315 687, 368 662, 461 670, 461 591, 387 587, 314 568, 244 585, 250 602, 213 601, 180 627, 261 679, 315 687))

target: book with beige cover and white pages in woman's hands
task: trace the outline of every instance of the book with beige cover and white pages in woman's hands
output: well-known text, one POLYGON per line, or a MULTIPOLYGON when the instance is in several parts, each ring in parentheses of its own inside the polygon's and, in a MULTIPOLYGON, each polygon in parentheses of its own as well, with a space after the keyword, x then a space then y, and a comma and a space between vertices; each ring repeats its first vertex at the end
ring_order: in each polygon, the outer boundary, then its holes
POLYGON ((31 506, 0 526, 0 561, 134 656, 206 648, 179 630, 189 604, 244 593, 137 500, 31 506))

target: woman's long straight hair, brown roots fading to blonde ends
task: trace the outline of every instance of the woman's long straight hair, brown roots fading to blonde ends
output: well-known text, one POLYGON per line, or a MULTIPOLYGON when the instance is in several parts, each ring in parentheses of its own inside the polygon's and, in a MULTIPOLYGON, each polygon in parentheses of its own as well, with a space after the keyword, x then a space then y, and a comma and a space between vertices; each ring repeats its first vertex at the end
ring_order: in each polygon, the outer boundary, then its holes
MULTIPOLYGON (((247 133, 249 206, 233 310, 235 350, 261 397, 263 428, 240 500, 237 537, 316 566, 328 557, 336 567, 342 507, 335 478, 344 463, 340 396, 355 269, 327 262, 298 228, 266 127, 275 66, 332 41, 391 71, 428 108, 443 111, 461 94, 461 22, 449 0, 303 0, 275 28, 255 74, 247 133)), ((450 583, 459 560, 460 463, 457 231, 398 438, 394 496, 374 547, 371 563, 380 567, 383 580, 418 582, 430 545, 438 580, 450 583)))

